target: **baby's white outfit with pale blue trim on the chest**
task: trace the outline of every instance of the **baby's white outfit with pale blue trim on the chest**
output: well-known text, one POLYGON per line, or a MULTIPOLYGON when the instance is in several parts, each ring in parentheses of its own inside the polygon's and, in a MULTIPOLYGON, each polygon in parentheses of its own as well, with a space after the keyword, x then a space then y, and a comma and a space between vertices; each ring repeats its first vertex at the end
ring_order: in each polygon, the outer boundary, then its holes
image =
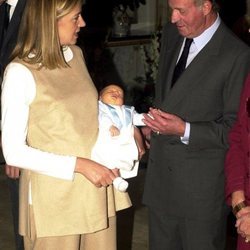
MULTIPOLYGON (((145 126, 142 119, 143 114, 138 114, 133 106, 108 105, 99 101, 99 134, 92 150, 92 160, 110 169, 120 169, 123 178, 136 176, 139 160, 134 126, 145 126), (112 125, 120 130, 118 136, 111 136, 109 129, 112 125)), ((119 190, 125 191, 127 186, 120 185, 119 190)))

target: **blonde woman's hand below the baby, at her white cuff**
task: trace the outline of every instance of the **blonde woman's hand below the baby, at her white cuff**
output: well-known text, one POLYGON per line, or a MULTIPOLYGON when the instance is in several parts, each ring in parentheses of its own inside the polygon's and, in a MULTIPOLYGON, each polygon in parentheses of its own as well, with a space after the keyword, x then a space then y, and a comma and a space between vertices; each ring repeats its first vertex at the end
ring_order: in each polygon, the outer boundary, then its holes
POLYGON ((96 187, 107 187, 119 176, 118 171, 85 158, 77 158, 75 172, 84 175, 96 187))

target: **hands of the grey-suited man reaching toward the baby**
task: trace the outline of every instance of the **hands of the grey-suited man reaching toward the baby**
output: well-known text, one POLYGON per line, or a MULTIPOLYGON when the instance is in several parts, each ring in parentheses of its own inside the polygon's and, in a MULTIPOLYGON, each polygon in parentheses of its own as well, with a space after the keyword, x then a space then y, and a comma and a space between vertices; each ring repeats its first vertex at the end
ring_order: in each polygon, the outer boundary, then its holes
POLYGON ((154 132, 163 135, 184 136, 186 123, 180 117, 150 108, 144 115, 144 123, 154 132))

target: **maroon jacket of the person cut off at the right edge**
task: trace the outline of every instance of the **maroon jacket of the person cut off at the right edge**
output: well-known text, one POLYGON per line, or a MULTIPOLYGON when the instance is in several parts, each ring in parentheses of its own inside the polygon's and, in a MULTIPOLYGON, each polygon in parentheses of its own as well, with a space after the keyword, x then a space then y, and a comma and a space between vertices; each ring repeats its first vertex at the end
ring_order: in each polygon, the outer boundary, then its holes
POLYGON ((226 157, 226 197, 231 205, 231 194, 242 190, 250 204, 250 74, 242 91, 237 121, 229 133, 230 148, 226 157))

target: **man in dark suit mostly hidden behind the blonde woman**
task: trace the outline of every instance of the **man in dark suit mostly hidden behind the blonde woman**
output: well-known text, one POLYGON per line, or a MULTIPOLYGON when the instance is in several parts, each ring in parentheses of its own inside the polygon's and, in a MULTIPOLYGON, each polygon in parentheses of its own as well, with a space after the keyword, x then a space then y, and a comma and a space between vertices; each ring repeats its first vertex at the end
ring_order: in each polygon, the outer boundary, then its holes
MULTIPOLYGON (((19 29, 20 20, 25 7, 26 0, 0 0, 0 83, 3 78, 3 71, 10 61, 10 55, 16 45, 16 39, 19 29), (4 19, 7 13, 5 12, 6 4, 9 4, 9 24, 4 30, 4 19)), ((18 234, 18 203, 19 203, 19 169, 6 166, 6 174, 9 177, 9 187, 12 202, 12 214, 14 221, 14 232, 16 249, 23 249, 22 237, 18 234)))

